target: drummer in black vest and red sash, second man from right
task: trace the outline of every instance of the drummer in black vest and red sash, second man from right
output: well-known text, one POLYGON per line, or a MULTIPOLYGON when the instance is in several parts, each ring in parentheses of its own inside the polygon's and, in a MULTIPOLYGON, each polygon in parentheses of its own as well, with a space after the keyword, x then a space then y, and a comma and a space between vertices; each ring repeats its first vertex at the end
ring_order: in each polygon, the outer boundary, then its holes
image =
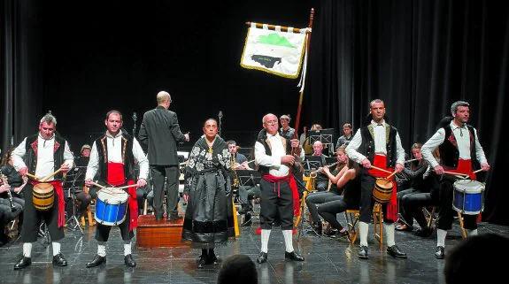
MULTIPOLYGON (((365 126, 353 136, 346 147, 346 153, 353 161, 362 165, 360 169, 360 215, 359 215, 359 258, 366 259, 368 223, 373 215, 373 188, 376 178, 389 176, 394 169, 403 171, 405 150, 396 127, 390 126, 385 117, 385 103, 375 99, 369 104, 370 114, 366 117, 365 126), (389 139, 389 141, 387 141, 389 139), (374 165, 382 170, 375 170, 374 165)), ((397 220, 396 182, 389 203, 382 204, 383 227, 387 236, 387 253, 391 257, 406 258, 406 253, 399 249, 394 240, 394 222, 397 220)))

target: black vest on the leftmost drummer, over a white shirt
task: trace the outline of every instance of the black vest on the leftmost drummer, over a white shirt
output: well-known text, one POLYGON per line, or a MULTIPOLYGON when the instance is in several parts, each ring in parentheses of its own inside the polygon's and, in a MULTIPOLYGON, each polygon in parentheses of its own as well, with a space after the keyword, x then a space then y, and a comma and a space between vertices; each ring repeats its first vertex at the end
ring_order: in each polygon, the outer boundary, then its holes
MULTIPOLYGON (((39 143, 37 142, 39 134, 28 136, 25 141, 25 165, 27 165, 28 173, 35 174, 37 168, 37 149, 39 143)), ((64 164, 64 150, 66 149, 66 140, 60 136, 55 135, 55 147, 53 148, 53 167, 56 170, 60 165, 64 164)), ((54 176, 55 180, 62 180, 62 173, 57 173, 54 176)))

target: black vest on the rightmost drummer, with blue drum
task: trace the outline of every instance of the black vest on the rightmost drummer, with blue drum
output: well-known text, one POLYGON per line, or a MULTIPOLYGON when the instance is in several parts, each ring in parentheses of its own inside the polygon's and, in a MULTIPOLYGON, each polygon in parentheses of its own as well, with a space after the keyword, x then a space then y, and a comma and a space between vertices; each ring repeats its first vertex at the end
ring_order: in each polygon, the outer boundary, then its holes
MULTIPOLYGON (((468 133, 470 135, 470 160, 472 161, 472 168, 477 165, 477 157, 475 156, 475 134, 474 127, 468 126, 468 133)), ((448 168, 458 168, 459 150, 456 138, 452 133, 451 125, 443 127, 445 130, 445 139, 443 143, 438 146, 440 150, 440 158, 442 159, 442 165, 448 168)))

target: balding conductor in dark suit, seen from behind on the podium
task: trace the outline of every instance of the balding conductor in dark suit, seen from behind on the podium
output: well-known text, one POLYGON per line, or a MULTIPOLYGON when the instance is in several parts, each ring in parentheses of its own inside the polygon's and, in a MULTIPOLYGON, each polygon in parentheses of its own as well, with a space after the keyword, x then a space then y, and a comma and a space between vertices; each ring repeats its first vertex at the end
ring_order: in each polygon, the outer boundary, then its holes
POLYGON ((182 134, 174 111, 168 111, 172 97, 165 91, 158 93, 158 107, 143 114, 138 140, 148 150, 150 174, 154 184, 154 211, 156 220, 163 219, 163 189, 167 178, 166 220, 182 219, 178 215, 179 157, 177 142, 189 142, 189 134, 182 134))

